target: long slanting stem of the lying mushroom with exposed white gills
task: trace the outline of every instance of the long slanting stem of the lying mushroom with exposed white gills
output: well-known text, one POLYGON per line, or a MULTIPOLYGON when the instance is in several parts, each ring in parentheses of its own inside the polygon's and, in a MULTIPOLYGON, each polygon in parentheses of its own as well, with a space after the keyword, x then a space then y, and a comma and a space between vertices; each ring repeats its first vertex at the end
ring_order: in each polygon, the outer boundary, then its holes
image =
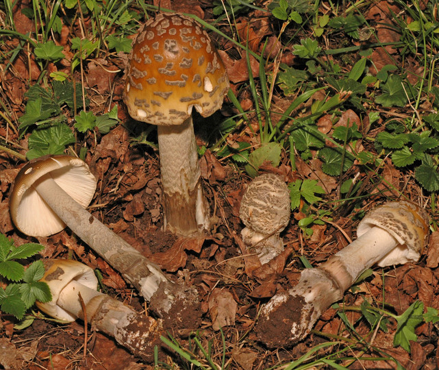
POLYGON ((160 282, 172 284, 160 268, 131 247, 72 199, 48 174, 34 183, 55 214, 94 251, 119 271, 148 301, 160 282))

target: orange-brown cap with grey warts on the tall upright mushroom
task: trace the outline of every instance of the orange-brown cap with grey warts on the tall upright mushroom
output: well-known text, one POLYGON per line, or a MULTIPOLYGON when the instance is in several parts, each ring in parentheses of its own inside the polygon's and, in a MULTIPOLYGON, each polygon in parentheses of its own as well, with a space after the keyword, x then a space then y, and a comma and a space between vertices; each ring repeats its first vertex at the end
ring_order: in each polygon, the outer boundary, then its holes
POLYGON ((181 14, 158 14, 140 29, 127 65, 123 100, 131 117, 179 125, 192 107, 210 116, 229 89, 223 61, 201 25, 181 14))

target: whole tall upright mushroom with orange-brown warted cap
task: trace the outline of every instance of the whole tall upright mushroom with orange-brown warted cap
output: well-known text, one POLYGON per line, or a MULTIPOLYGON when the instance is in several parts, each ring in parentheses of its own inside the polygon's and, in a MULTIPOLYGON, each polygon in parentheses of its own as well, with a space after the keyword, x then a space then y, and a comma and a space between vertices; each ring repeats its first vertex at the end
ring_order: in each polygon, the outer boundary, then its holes
POLYGON ((229 79, 201 25, 158 14, 140 29, 127 65, 123 100, 132 118, 158 125, 165 229, 191 236, 209 228, 192 108, 221 108, 229 79))

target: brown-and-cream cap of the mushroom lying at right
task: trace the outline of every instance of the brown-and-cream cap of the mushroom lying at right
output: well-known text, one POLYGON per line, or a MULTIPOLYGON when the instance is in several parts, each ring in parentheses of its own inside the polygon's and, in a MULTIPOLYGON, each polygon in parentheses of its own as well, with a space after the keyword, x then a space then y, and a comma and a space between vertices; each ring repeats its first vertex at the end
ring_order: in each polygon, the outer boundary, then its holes
POLYGON ((428 236, 427 212, 410 201, 392 201, 368 212, 360 222, 357 235, 377 226, 386 230, 400 244, 377 262, 385 267, 419 260, 428 236))

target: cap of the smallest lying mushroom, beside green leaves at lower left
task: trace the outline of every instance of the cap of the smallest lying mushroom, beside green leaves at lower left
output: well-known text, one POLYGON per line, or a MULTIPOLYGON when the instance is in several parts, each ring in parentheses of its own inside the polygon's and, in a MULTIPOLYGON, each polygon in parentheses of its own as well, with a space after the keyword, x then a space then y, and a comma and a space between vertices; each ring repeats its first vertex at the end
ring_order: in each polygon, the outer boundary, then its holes
MULTIPOLYGON (((49 285, 52 300, 50 302, 36 301, 36 306, 55 319, 75 321, 77 317, 58 306, 58 299, 62 290, 72 280, 96 291, 98 280, 93 269, 75 260, 45 260, 44 263, 46 272, 40 282, 49 285)), ((77 292, 72 291, 71 293, 72 301, 78 299, 77 292)))

